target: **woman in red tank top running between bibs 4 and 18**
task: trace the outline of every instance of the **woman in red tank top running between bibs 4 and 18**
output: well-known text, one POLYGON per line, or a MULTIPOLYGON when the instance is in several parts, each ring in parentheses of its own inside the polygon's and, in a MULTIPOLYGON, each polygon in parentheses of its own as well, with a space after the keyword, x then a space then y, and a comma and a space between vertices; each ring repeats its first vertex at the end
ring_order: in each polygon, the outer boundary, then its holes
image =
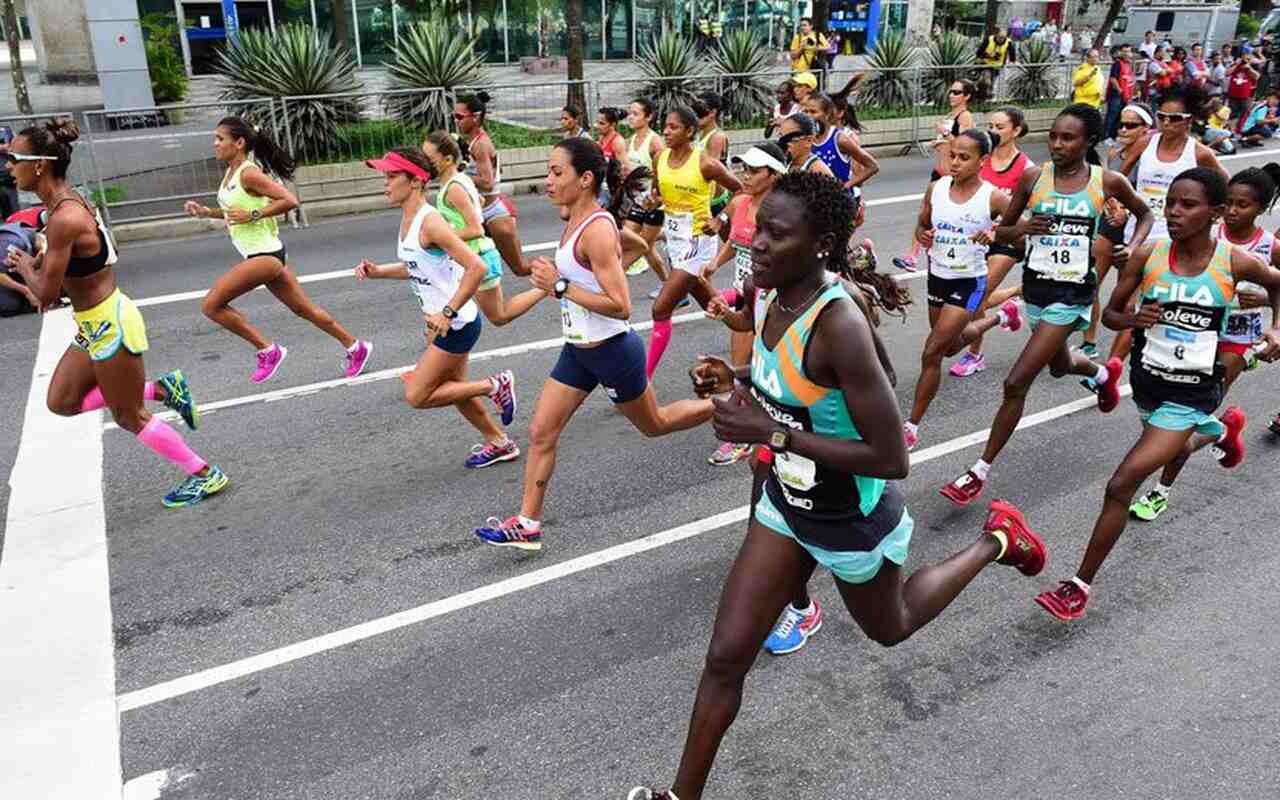
MULTIPOLYGON (((996 148, 982 163, 982 172, 978 177, 996 187, 1006 197, 1014 196, 1023 179, 1023 173, 1032 166, 1032 160, 1018 148, 1018 140, 1027 136, 1027 116, 1021 109, 1005 106, 991 113, 988 120, 992 138, 996 140, 996 148)), ((987 250, 987 297, 982 301, 978 316, 983 316, 992 308, 1004 306, 1010 300, 1023 293, 1021 284, 1000 288, 1005 283, 1005 276, 1027 255, 1025 242, 1018 244, 992 243, 987 250)), ((987 369, 987 358, 982 355, 982 334, 964 351, 960 360, 951 365, 951 374, 956 378, 968 378, 987 369)))

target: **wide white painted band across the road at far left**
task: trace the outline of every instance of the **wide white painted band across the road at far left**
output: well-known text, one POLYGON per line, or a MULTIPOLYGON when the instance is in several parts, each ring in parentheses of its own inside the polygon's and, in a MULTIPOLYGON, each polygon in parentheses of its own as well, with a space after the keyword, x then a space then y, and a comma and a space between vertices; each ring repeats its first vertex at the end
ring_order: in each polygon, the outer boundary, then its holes
POLYGON ((0 561, 0 783, 6 797, 120 797, 100 412, 45 407, 76 335, 51 311, 27 396, 0 561))

